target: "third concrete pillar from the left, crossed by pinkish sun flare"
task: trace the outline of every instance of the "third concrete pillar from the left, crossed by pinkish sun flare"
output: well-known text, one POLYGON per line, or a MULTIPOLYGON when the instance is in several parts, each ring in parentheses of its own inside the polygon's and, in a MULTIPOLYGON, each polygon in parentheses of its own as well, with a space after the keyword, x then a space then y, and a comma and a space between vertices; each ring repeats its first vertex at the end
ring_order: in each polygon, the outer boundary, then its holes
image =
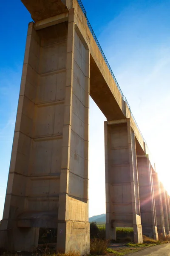
POLYGON ((152 171, 148 155, 137 156, 139 198, 143 235, 158 240, 152 171))

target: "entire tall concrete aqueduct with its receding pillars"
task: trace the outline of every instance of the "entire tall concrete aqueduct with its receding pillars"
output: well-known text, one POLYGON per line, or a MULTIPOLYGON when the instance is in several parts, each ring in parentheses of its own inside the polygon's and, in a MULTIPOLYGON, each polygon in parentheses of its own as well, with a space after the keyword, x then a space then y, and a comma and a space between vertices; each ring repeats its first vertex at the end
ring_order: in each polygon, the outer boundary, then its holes
POLYGON ((105 122, 106 236, 170 232, 170 198, 80 0, 22 0, 28 25, 0 247, 32 251, 40 228, 57 250, 89 253, 89 95, 105 122))

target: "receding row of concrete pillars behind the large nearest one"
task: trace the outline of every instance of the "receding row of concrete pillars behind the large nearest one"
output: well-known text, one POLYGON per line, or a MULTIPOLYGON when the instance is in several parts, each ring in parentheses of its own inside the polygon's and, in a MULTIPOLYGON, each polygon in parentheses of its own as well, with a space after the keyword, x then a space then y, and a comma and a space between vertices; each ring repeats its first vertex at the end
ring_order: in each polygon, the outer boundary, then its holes
POLYGON ((142 235, 170 234, 170 197, 132 127, 130 118, 105 122, 106 236, 133 227, 141 243, 142 235))

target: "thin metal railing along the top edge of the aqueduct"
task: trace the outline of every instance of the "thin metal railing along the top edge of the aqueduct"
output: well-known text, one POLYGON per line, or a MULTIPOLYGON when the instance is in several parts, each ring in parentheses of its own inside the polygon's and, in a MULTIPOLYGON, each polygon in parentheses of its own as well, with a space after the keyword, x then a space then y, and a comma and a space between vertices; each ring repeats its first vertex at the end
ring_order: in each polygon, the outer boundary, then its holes
MULTIPOLYGON (((106 58, 106 56, 105 56, 105 54, 104 54, 104 52, 103 52, 103 50, 102 50, 102 47, 100 46, 99 41, 98 41, 98 39, 96 38, 96 35, 95 35, 95 33, 94 33, 94 30, 92 29, 92 26, 91 26, 91 24, 90 24, 90 22, 89 22, 89 20, 88 20, 87 12, 85 11, 85 7, 83 6, 81 0, 77 0, 77 2, 79 3, 79 6, 80 6, 80 8, 82 9, 82 12, 84 13, 84 15, 85 15, 85 17, 86 17, 87 24, 88 24, 88 27, 89 27, 89 29, 90 29, 90 31, 91 31, 91 34, 93 35, 94 40, 96 41, 96 44, 97 44, 97 46, 99 47, 99 50, 100 50, 100 52, 101 52, 101 54, 102 54, 102 56, 103 56, 103 58, 104 58, 104 60, 105 60, 105 63, 106 63, 107 66, 108 66, 108 69, 109 69, 110 72, 111 72, 111 75, 112 75, 112 77, 113 77, 113 79, 114 79, 114 81, 115 81, 115 84, 116 84, 116 86, 117 86, 117 88, 118 88, 118 90, 119 90, 119 92, 120 92, 120 94, 121 94, 123 100, 126 102, 127 107, 128 107, 129 110, 130 110, 130 105, 129 105, 129 103, 127 102, 126 97, 125 97, 125 96, 123 95, 123 93, 122 93, 122 90, 121 90, 121 88, 120 88, 120 86, 119 86, 119 84, 118 84, 118 82, 117 82, 117 80, 116 80, 116 77, 115 77, 114 74, 113 74, 113 71, 112 71, 112 69, 111 69, 111 66, 110 66, 109 63, 108 63, 108 60, 107 60, 107 58, 106 58)), ((139 126, 137 125, 137 122, 136 122, 136 120, 135 120, 135 118, 134 118, 133 113, 132 113, 131 110, 130 110, 130 114, 131 114, 131 116, 132 116, 132 118, 133 118, 133 121, 134 121, 135 124, 136 124, 136 127, 137 127, 138 130, 139 130, 139 133, 140 133, 141 136, 142 136, 142 139, 144 140, 144 137, 143 137, 143 135, 142 135, 142 132, 140 131, 139 126)), ((144 142, 146 143, 145 140, 144 140, 144 142)), ((146 144, 147 144, 147 143, 146 143, 146 144)))

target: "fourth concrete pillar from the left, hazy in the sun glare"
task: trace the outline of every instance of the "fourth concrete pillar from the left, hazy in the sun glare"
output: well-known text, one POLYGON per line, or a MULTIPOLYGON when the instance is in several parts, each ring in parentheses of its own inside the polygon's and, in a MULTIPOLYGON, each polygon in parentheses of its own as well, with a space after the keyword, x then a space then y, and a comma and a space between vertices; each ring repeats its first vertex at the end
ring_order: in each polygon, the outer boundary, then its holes
POLYGON ((159 235, 163 234, 163 236, 165 237, 164 213, 163 213, 163 206, 162 206, 160 182, 158 178, 158 173, 156 173, 153 169, 152 169, 152 177, 153 177, 153 190, 154 190, 154 198, 155 198, 158 234, 159 235))

